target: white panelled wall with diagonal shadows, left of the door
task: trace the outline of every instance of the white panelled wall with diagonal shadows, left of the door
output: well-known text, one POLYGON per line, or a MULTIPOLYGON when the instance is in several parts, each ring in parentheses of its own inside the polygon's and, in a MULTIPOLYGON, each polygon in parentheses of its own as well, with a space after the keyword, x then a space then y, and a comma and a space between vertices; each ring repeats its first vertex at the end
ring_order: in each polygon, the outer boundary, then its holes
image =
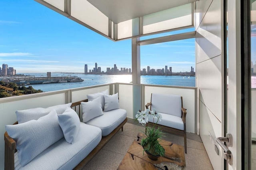
POLYGON ((217 155, 213 139, 222 136, 222 1, 196 2, 196 86, 199 90, 200 137, 212 166, 221 170, 221 150, 217 155))

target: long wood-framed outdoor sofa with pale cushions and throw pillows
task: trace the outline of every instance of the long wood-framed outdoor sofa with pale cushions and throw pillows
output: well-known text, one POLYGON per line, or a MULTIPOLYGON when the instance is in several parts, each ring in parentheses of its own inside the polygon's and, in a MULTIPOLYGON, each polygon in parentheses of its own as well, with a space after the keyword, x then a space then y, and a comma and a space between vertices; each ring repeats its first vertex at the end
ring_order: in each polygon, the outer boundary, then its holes
MULTIPOLYGON (((120 109, 119 104, 115 105, 118 94, 108 96, 106 93, 108 92, 92 94, 93 98, 88 95, 88 99, 72 104, 16 111, 18 122, 14 125, 6 125, 8 133, 4 134, 5 169, 66 170, 84 168, 120 129, 123 130, 123 125, 127 121, 126 110, 120 109), (102 103, 100 109, 98 104, 97 108, 92 105, 92 103, 97 103, 95 102, 97 96, 100 97, 100 103, 102 103), (102 101, 102 98, 105 99, 105 97, 110 100, 106 100, 106 105, 104 105, 106 111, 103 112, 102 105, 105 101, 102 101), (80 117, 74 111, 80 104, 83 108, 82 115, 85 123, 80 122, 80 117), (60 117, 65 114, 68 118, 64 116, 64 122, 61 123, 60 117), (59 122, 56 123, 56 119, 59 122), (17 129, 21 129, 22 132, 17 129), (73 130, 70 131, 70 129, 73 130), (28 134, 26 135, 24 131, 27 131, 28 134), (55 137, 58 139, 54 139, 55 137)), ((97 100, 99 101, 99 98, 97 100)), ((78 112, 80 115, 80 109, 78 112)))

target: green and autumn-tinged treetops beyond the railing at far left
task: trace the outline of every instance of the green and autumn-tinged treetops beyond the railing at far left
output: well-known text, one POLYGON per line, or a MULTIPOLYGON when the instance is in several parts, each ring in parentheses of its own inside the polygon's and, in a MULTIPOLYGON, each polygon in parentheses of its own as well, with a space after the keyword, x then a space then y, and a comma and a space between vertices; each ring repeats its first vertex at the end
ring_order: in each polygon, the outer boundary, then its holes
POLYGON ((0 98, 6 98, 11 96, 20 96, 24 94, 41 93, 42 90, 36 90, 32 86, 17 86, 15 83, 6 83, 0 81, 0 98))

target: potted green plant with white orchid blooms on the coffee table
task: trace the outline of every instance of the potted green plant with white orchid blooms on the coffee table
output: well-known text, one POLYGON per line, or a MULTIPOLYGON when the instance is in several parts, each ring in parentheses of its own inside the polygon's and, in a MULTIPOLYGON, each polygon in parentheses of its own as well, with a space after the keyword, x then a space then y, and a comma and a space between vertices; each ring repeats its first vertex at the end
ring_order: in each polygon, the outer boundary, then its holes
POLYGON ((160 127, 155 129, 156 124, 158 121, 161 121, 162 115, 157 113, 156 111, 150 111, 146 109, 146 111, 138 111, 136 114, 136 121, 140 124, 148 123, 148 117, 156 117, 157 121, 154 123, 153 127, 146 127, 146 138, 141 140, 140 145, 143 147, 143 154, 144 152, 147 153, 148 158, 151 160, 157 160, 158 157, 164 156, 165 150, 159 143, 159 138, 162 137, 164 134, 160 127))

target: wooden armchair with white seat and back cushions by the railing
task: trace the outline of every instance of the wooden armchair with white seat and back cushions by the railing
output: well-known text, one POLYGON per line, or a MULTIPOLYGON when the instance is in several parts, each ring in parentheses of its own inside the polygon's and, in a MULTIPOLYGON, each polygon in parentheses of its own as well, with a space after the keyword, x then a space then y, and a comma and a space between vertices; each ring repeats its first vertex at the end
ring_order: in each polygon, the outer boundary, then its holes
MULTIPOLYGON (((161 127, 167 131, 184 137, 184 149, 187 153, 186 136, 186 109, 183 108, 182 96, 151 94, 151 102, 146 104, 146 108, 155 110, 162 115, 162 121, 158 121, 156 127, 161 127)), ((157 118, 149 118, 146 127, 152 127, 157 118)))

